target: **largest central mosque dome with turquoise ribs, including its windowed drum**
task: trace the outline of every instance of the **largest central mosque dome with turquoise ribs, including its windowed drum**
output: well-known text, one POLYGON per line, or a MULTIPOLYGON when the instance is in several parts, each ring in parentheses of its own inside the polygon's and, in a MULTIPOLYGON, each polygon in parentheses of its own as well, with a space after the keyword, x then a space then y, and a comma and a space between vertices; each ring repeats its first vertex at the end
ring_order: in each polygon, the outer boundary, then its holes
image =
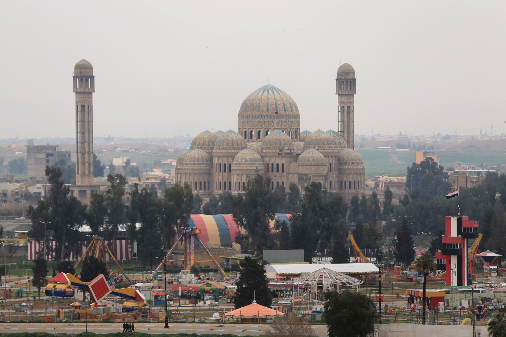
POLYGON ((297 103, 270 84, 249 94, 239 109, 238 132, 247 141, 260 142, 274 130, 299 140, 300 124, 297 103))

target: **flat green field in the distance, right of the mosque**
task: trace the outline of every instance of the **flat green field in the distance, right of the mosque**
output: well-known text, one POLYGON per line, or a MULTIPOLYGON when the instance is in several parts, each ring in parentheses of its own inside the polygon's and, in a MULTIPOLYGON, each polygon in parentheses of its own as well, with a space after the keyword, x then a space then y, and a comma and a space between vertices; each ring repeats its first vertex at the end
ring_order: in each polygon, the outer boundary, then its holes
MULTIPOLYGON (((415 160, 414 151, 383 151, 371 149, 357 149, 365 163, 367 177, 377 175, 399 176, 406 174, 406 167, 415 160)), ((506 154, 502 150, 439 150, 435 151, 443 166, 454 166, 456 161, 463 165, 478 165, 481 163, 496 166, 499 162, 506 162, 506 154)))

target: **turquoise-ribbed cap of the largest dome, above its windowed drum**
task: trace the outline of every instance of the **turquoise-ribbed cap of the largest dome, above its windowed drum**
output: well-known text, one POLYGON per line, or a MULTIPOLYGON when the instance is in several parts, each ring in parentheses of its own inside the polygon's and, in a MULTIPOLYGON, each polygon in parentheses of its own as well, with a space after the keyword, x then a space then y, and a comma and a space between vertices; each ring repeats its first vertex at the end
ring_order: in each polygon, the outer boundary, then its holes
POLYGON ((270 84, 249 94, 239 110, 239 114, 275 114, 276 112, 299 115, 299 108, 290 95, 270 84))

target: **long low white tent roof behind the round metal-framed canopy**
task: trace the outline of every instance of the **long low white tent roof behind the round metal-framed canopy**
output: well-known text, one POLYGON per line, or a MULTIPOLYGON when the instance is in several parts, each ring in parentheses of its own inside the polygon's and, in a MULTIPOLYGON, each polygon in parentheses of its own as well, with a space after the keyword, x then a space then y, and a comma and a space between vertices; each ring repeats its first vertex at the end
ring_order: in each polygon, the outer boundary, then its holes
MULTIPOLYGON (((266 265, 267 273, 273 272, 278 275, 292 275, 312 273, 323 268, 323 264, 290 264, 290 265, 266 265)), ((372 263, 331 263, 325 264, 325 268, 342 274, 372 274, 378 273, 379 269, 372 263)))

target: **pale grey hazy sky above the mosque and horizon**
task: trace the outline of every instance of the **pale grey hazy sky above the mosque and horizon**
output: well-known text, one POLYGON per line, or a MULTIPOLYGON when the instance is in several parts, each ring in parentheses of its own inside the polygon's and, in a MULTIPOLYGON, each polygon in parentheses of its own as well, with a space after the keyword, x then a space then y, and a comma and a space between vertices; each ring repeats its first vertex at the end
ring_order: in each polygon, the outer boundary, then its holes
POLYGON ((506 132, 504 1, 2 1, 0 138, 75 134, 72 72, 95 72, 96 136, 237 131, 268 81, 301 130, 337 130, 355 68, 357 134, 506 132))

